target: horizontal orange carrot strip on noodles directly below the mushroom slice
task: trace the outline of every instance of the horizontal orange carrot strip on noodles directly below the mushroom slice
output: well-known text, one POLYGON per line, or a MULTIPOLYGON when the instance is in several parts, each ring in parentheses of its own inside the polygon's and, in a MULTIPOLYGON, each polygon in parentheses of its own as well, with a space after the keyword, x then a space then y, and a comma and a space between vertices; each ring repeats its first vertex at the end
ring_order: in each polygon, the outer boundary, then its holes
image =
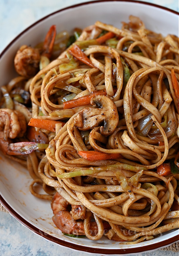
POLYGON ((89 160, 89 161, 97 161, 97 160, 108 160, 108 159, 118 159, 121 157, 119 153, 103 153, 98 151, 78 151, 78 155, 89 160))

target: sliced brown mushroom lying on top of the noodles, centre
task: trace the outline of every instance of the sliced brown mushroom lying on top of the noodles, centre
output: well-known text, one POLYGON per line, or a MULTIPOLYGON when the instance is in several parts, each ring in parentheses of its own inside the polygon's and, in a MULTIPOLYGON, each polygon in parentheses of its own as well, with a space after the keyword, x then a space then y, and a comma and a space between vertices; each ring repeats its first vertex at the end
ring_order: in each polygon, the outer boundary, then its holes
POLYGON ((96 95, 92 97, 90 104, 94 107, 87 107, 79 111, 74 117, 74 125, 79 130, 86 131, 103 124, 100 127, 101 134, 104 136, 112 134, 119 122, 115 103, 108 96, 96 95))

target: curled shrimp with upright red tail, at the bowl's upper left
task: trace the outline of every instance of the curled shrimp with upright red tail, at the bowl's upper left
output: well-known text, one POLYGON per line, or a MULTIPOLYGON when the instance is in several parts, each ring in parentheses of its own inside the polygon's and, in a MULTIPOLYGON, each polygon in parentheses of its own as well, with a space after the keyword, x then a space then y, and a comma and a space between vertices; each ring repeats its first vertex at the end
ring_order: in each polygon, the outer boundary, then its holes
POLYGON ((53 25, 47 32, 42 49, 33 48, 27 45, 22 45, 20 47, 14 58, 14 67, 20 76, 30 78, 36 75, 39 70, 41 56, 46 56, 48 59, 51 56, 55 36, 56 26, 53 25))

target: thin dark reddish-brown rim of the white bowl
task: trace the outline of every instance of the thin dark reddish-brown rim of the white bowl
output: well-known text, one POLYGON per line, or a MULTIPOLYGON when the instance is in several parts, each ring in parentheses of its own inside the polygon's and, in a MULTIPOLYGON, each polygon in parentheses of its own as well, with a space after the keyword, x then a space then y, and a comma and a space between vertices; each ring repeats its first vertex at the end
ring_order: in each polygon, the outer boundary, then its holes
MULTIPOLYGON (((35 23, 33 23, 32 25, 30 25, 29 27, 27 27, 25 30, 23 30, 20 34, 18 34, 18 36, 16 36, 8 45, 7 47, 4 48, 4 50, 0 53, 0 59, 1 56, 3 56, 3 54, 8 50, 8 48, 22 35, 24 34, 26 31, 28 31, 30 28, 34 27, 36 24, 40 23, 41 21, 47 19, 50 16, 53 16, 56 13, 60 13, 64 10, 68 10, 74 7, 78 7, 78 6, 82 6, 82 5, 88 5, 88 4, 94 4, 94 3, 99 3, 99 2, 132 2, 132 3, 138 3, 138 4, 145 4, 145 5, 150 5, 150 6, 154 6, 156 8, 159 9, 164 9, 166 11, 169 11, 171 13, 177 14, 179 15, 179 13, 175 10, 171 10, 167 7, 163 7, 163 6, 159 6, 157 4, 152 4, 152 3, 148 3, 148 2, 143 2, 143 1, 135 1, 135 0, 96 0, 96 1, 88 1, 88 2, 84 2, 84 3, 79 3, 79 4, 74 4, 68 7, 65 7, 63 9, 57 10, 53 13, 50 13, 47 16, 44 16, 43 18, 39 19, 38 21, 36 21, 35 23)), ((67 241, 63 241, 60 240, 57 237, 53 237, 52 235, 49 235, 47 233, 45 233, 44 231, 36 228, 35 226, 33 226, 32 224, 30 224, 27 220, 25 220, 23 217, 21 217, 18 213, 16 213, 16 211, 4 200, 4 198, 1 196, 0 194, 0 203, 2 204, 2 206, 4 206, 5 209, 7 209, 7 211, 13 216, 15 217, 21 224, 23 224, 24 226, 26 226, 28 229, 30 229, 31 231, 33 231, 34 233, 44 237, 47 240, 50 240, 51 242, 54 242, 56 244, 59 244, 61 246, 65 246, 71 249, 75 249, 75 250, 80 250, 83 252, 90 252, 90 253, 99 253, 99 254, 105 254, 105 255, 114 255, 114 254, 121 254, 121 255, 125 255, 126 253, 138 253, 138 252, 146 252, 146 251, 151 251, 151 250, 155 250, 155 249, 159 249, 162 247, 166 247, 169 246, 172 243, 175 243, 178 241, 178 236, 174 236, 171 237, 167 240, 152 244, 152 245, 146 245, 146 246, 139 246, 137 248, 126 248, 126 249, 102 249, 102 248, 91 248, 91 247, 86 247, 86 246, 81 246, 81 245, 76 245, 67 241)))

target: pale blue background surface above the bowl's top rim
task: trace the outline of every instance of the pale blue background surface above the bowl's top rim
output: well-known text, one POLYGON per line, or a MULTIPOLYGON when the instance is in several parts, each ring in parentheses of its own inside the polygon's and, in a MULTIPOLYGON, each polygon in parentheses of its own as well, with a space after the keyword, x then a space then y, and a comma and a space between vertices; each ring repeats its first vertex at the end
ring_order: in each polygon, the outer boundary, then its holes
MULTIPOLYGON (((81 2, 87 0, 0 0, 0 52, 15 36, 38 19, 81 2)), ((177 12, 179 10, 178 0, 144 0, 144 2, 158 4, 177 12)))

